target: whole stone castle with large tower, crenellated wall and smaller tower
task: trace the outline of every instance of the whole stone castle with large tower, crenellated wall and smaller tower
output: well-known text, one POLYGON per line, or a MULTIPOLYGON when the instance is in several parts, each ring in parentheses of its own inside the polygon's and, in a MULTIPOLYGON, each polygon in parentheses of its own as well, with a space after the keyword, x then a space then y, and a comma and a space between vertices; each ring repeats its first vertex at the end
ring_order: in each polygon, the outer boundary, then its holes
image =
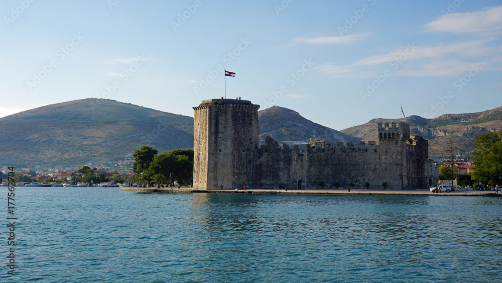
POLYGON ((375 141, 311 140, 305 148, 280 146, 267 137, 259 146, 258 109, 250 101, 204 100, 194 107, 193 187, 354 187, 416 190, 428 187, 428 142, 410 136, 406 123, 378 125, 375 141))

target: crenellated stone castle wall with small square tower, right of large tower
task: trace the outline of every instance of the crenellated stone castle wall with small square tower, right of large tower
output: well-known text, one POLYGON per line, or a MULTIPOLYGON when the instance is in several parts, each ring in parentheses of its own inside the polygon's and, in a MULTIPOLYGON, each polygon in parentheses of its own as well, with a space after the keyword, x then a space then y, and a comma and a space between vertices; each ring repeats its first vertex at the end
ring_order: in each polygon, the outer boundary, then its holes
POLYGON ((303 149, 282 147, 268 137, 259 150, 262 187, 324 188, 335 186, 415 190, 427 187, 428 144, 420 136, 410 139, 405 123, 379 125, 375 142, 333 143, 312 140, 303 149), (301 184, 299 185, 299 182, 301 184))

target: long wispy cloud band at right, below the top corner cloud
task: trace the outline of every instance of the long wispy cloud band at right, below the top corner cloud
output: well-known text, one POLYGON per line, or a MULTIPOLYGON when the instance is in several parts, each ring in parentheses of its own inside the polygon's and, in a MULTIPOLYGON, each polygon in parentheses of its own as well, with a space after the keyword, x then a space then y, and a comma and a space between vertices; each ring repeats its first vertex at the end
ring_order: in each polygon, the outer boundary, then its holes
POLYGON ((496 38, 486 38, 435 46, 408 45, 391 52, 368 56, 350 65, 324 64, 314 69, 333 77, 367 78, 385 69, 398 76, 456 76, 478 64, 483 71, 502 70, 502 53, 496 38), (406 54, 406 56, 404 56, 406 54), (396 62, 406 67, 394 71, 396 62), (394 65, 393 65, 393 64, 394 65))

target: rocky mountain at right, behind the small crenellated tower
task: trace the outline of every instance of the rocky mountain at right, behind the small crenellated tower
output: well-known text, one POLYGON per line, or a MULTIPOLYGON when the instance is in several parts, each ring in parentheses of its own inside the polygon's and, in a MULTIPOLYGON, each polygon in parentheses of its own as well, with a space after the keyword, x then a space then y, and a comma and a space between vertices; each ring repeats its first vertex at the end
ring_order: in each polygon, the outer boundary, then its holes
MULTIPOLYGON (((372 119, 341 132, 363 141, 376 141, 378 123, 399 121, 401 119, 372 119)), ((430 158, 444 157, 450 138, 457 154, 467 156, 474 149, 473 142, 477 135, 502 129, 502 107, 477 113, 444 114, 434 119, 409 116, 402 121, 410 124, 410 134, 421 135, 429 140, 430 158)))

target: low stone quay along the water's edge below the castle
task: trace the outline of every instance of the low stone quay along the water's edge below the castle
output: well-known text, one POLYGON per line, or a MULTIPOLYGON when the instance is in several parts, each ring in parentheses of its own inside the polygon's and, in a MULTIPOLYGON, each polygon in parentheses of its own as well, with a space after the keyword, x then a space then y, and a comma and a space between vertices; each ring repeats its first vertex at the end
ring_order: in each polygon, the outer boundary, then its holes
MULTIPOLYGON (((244 194, 243 189, 239 190, 194 190, 190 187, 181 188, 156 188, 156 187, 122 187, 124 192, 137 193, 177 193, 177 194, 244 194)), ((455 190, 450 193, 432 193, 430 190, 366 190, 352 189, 347 190, 332 190, 332 189, 317 189, 317 190, 274 190, 264 188, 250 188, 245 191, 245 194, 263 194, 263 195, 380 195, 380 196, 464 196, 464 197, 502 197, 502 192, 495 191, 477 191, 477 190, 455 190)))

